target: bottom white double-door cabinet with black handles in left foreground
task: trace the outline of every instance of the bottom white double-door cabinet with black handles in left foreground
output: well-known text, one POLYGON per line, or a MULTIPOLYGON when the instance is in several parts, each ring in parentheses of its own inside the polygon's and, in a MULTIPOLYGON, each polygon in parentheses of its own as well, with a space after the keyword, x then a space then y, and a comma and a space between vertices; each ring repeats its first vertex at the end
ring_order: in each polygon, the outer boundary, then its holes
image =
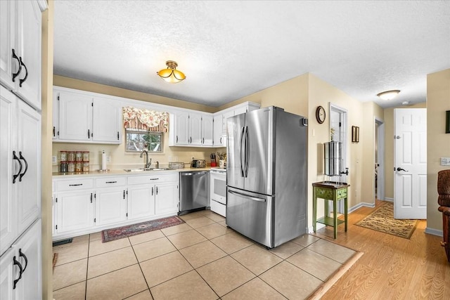
POLYGON ((0 299, 42 299, 41 220, 0 256, 0 299))

